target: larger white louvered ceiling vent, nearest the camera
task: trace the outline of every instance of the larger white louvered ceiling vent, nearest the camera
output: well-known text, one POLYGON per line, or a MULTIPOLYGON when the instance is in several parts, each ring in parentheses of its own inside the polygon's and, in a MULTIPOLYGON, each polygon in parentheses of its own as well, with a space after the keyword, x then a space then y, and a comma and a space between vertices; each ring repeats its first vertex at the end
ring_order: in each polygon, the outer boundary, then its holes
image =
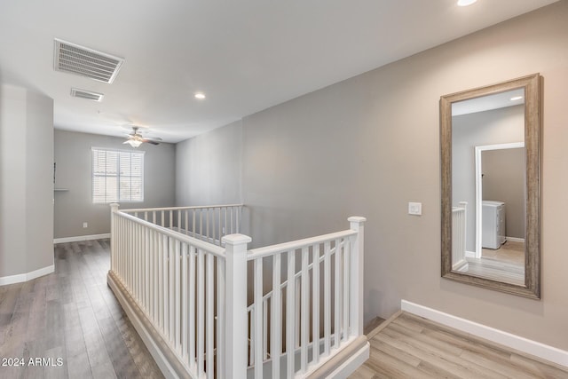
POLYGON ((53 68, 55 71, 90 77, 113 83, 124 59, 100 51, 55 39, 53 68))

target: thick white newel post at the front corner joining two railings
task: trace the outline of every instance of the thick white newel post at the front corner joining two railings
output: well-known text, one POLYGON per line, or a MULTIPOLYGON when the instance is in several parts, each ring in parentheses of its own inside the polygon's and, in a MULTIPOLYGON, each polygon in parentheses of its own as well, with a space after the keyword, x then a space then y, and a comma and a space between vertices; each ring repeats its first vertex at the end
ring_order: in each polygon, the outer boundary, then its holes
POLYGON ((247 244, 243 234, 225 235, 225 375, 247 377, 247 244))

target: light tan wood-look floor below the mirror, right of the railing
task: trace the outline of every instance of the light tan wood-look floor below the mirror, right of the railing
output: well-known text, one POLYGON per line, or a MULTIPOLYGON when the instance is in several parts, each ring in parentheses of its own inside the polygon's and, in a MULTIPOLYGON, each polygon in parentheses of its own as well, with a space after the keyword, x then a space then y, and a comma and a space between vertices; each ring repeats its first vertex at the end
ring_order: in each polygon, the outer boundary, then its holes
POLYGON ((370 358, 351 379, 568 378, 568 369, 406 312, 367 336, 370 358))

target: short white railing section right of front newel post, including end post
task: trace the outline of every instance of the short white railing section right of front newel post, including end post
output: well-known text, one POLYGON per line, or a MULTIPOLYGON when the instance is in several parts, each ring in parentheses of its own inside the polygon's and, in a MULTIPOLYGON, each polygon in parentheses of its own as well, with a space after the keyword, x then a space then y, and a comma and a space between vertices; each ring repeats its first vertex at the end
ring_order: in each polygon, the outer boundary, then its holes
POLYGON ((310 375, 362 336, 365 218, 349 220, 343 232, 248 251, 254 277, 248 363, 255 378, 269 359, 273 378, 310 375), (264 276, 272 283, 264 285, 264 276))

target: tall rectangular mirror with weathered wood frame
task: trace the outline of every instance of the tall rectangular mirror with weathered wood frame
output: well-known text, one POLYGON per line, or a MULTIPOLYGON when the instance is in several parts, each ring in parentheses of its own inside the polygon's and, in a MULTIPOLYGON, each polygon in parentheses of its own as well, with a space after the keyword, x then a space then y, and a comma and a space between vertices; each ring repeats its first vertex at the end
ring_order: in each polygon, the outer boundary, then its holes
POLYGON ((442 277, 540 299, 540 75, 440 98, 442 277))

